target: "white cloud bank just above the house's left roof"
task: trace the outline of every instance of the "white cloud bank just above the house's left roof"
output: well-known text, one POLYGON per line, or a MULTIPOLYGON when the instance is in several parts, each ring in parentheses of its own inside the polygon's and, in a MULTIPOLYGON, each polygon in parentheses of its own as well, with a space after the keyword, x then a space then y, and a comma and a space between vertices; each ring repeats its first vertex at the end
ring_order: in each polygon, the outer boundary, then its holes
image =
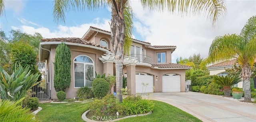
POLYGON ((96 18, 92 23, 88 24, 82 24, 78 26, 58 26, 57 30, 49 30, 45 27, 32 27, 32 26, 20 26, 20 27, 14 27, 12 26, 12 29, 20 29, 21 31, 24 31, 29 34, 34 34, 35 32, 41 33, 44 38, 55 38, 55 37, 82 37, 86 31, 90 28, 90 26, 94 26, 96 28, 100 28, 103 30, 110 31, 110 20, 102 19, 100 21, 99 18, 96 18))

